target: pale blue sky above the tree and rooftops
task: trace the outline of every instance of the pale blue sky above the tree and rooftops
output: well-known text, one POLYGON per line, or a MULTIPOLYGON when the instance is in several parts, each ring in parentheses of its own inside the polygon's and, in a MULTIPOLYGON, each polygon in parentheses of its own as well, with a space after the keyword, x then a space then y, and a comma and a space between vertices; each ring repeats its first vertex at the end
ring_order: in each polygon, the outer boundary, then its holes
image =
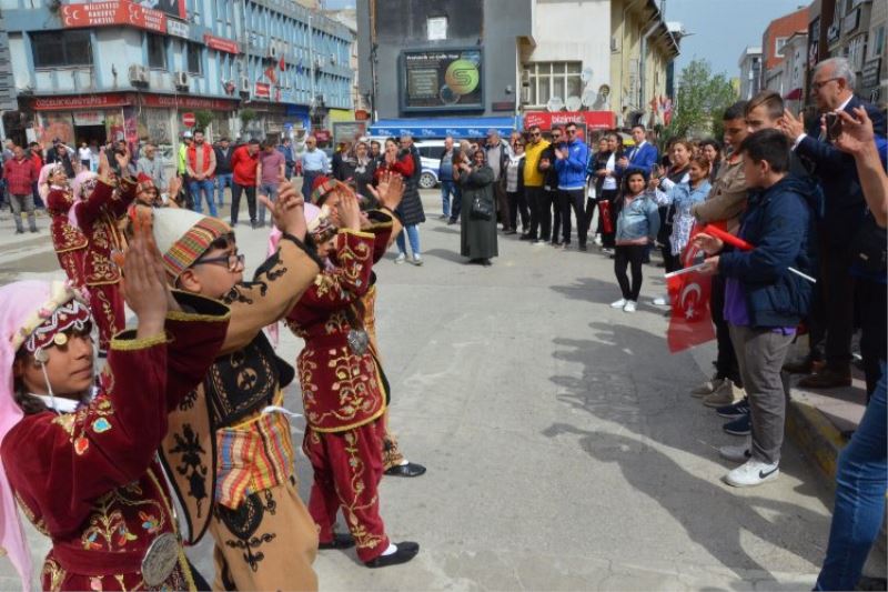
MULTIPOLYGON (((353 7, 355 0, 325 0, 325 3, 335 9, 353 7)), ((805 0, 666 0, 666 20, 679 21, 694 33, 682 40, 676 71, 680 72, 695 58, 704 58, 714 72, 738 77, 737 62, 746 46, 760 46, 761 33, 770 21, 809 3, 805 0)))

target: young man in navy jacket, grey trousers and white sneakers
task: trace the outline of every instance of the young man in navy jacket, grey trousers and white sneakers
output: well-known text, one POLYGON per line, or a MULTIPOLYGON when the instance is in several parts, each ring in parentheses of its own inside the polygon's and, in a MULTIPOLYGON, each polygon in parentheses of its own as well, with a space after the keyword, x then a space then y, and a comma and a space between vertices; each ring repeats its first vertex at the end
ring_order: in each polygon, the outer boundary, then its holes
MULTIPOLYGON (((786 423, 780 368, 796 327, 808 313, 813 285, 789 271, 811 274, 815 265, 817 192, 811 181, 788 174, 789 140, 765 129, 740 146, 749 187, 739 237, 751 250, 726 250, 704 271, 725 277, 725 320, 749 397, 751 445, 725 446, 722 456, 743 462, 725 475, 729 485, 758 485, 779 474, 786 423)), ((707 253, 724 243, 706 234, 695 241, 707 253)))

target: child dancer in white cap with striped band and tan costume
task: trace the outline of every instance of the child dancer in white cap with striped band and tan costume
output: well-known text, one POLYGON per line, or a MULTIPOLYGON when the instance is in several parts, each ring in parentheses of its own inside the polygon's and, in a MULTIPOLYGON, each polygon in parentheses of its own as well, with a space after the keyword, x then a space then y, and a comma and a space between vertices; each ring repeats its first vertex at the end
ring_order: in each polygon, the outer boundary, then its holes
POLYGON ((289 183, 268 202, 280 249, 243 281, 234 233, 216 218, 155 209, 168 279, 231 307, 224 343, 203 383, 173 413, 161 454, 184 510, 188 542, 214 541, 218 590, 316 590, 317 532, 299 498, 283 389, 293 369, 262 332, 321 269, 306 250, 302 198, 289 183))

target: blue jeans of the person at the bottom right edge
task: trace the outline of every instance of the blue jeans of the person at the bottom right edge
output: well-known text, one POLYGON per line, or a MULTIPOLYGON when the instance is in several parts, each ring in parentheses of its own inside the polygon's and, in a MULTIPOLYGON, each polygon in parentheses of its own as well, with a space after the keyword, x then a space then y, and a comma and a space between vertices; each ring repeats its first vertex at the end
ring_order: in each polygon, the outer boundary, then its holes
POLYGON ((885 449, 888 377, 884 360, 880 365, 881 378, 860 425, 839 454, 829 545, 815 590, 854 590, 879 535, 888 488, 885 449))

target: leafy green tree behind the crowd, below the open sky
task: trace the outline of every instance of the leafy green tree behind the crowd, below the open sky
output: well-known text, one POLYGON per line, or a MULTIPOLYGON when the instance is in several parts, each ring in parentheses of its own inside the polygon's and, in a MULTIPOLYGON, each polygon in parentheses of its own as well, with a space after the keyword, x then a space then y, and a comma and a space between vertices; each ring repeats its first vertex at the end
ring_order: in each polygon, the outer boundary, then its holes
POLYGON ((725 72, 713 74, 706 60, 688 63, 678 81, 673 117, 660 136, 673 138, 722 138, 722 114, 738 98, 737 89, 725 72))

